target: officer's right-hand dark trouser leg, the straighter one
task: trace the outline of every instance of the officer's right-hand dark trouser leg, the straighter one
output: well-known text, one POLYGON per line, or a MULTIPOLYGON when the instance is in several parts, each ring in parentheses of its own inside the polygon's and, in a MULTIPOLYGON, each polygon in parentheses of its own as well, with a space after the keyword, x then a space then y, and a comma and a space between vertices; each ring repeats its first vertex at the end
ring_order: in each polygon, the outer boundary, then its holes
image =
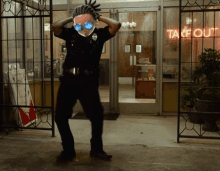
POLYGON ((98 85, 93 82, 84 85, 83 91, 79 96, 79 100, 86 116, 91 121, 91 151, 103 151, 103 107, 100 102, 98 85))

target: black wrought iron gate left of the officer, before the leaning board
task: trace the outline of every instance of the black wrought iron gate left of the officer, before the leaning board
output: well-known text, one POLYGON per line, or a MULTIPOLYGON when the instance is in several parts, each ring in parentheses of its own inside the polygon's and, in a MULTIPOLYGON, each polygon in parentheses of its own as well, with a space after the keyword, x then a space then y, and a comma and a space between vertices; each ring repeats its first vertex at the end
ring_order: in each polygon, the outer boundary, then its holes
POLYGON ((0 9, 0 128, 55 136, 52 0, 1 0, 0 9))

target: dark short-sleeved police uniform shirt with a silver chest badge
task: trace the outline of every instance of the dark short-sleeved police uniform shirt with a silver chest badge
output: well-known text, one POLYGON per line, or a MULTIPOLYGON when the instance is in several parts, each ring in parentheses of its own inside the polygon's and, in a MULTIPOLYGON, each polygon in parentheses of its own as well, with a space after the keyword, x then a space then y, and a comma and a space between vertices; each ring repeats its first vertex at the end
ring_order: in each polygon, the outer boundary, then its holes
POLYGON ((115 35, 111 35, 109 26, 106 26, 95 28, 88 37, 79 35, 74 27, 63 27, 61 34, 57 36, 54 33, 54 36, 66 41, 67 55, 63 64, 64 69, 73 67, 94 69, 99 67, 103 44, 115 35), (97 35, 97 40, 93 39, 94 34, 97 35))

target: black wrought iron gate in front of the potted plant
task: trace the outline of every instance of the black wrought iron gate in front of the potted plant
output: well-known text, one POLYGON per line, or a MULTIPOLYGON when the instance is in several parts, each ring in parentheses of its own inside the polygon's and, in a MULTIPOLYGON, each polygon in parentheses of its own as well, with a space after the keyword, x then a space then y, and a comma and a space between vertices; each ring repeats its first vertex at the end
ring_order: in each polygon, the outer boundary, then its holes
POLYGON ((179 2, 177 142, 180 138, 220 139, 220 3, 179 2))

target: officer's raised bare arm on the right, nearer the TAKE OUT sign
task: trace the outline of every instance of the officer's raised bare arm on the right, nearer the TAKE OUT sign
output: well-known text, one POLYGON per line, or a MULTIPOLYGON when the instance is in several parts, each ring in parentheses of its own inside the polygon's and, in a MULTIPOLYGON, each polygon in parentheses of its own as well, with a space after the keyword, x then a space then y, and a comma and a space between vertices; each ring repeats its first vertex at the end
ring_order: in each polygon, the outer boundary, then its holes
POLYGON ((111 18, 100 16, 99 21, 102 21, 109 26, 109 32, 111 35, 115 35, 121 28, 121 23, 111 18))

